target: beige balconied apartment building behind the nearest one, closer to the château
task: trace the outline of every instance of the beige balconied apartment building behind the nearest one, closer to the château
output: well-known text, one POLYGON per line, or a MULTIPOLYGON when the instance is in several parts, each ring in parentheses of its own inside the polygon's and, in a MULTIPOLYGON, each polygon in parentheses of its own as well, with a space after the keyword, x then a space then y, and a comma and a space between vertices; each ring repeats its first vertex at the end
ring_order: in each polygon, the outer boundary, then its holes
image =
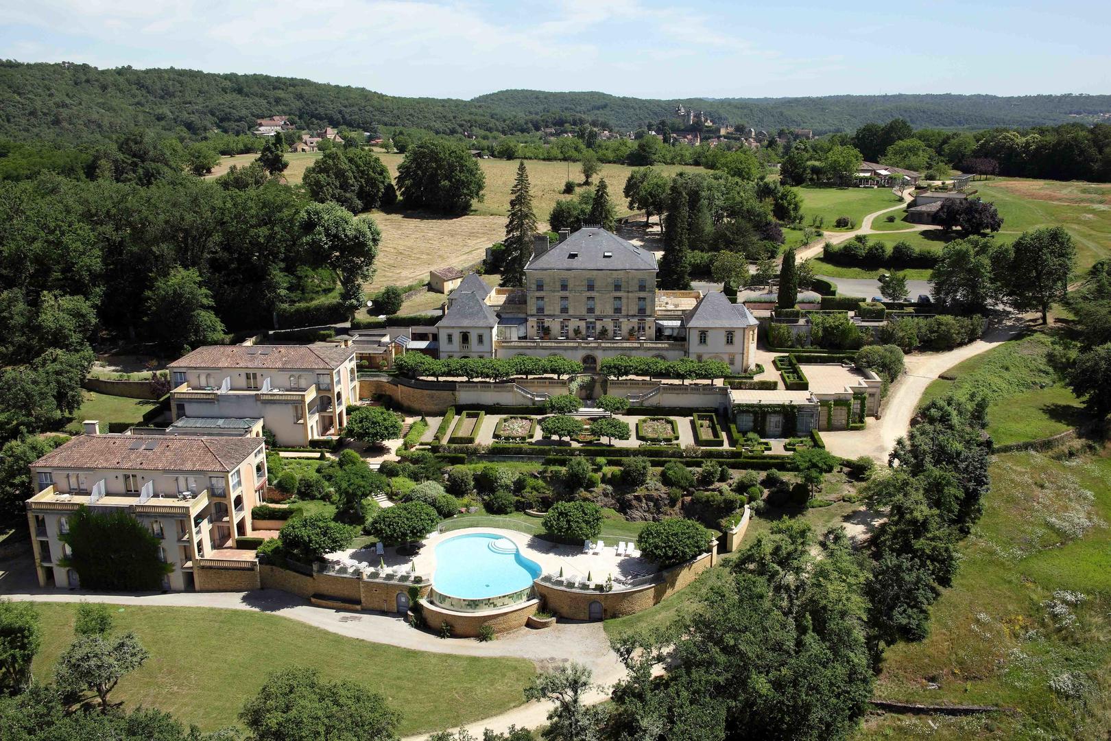
POLYGON ((338 434, 359 398, 356 350, 341 344, 207 346, 168 368, 174 422, 260 418, 279 445, 338 434))

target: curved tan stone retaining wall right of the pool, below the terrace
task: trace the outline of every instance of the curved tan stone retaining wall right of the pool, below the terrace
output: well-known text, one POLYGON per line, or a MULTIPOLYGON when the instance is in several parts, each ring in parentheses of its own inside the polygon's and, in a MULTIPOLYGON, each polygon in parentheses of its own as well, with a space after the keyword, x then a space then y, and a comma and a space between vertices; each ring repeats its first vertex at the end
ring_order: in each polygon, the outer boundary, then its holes
POLYGON ((544 609, 569 620, 590 620, 590 604, 602 605, 602 619, 621 618, 647 610, 683 589, 717 562, 718 547, 703 555, 660 573, 660 580, 644 587, 613 592, 593 592, 536 582, 544 609))

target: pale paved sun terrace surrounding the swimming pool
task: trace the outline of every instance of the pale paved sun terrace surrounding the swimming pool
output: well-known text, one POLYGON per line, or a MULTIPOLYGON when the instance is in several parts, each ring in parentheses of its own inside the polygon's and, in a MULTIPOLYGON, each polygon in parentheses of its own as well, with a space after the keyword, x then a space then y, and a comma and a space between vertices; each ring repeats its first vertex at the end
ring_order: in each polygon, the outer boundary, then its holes
MULTIPOLYGON (((638 575, 654 573, 655 564, 642 558, 630 558, 617 555, 617 542, 605 543, 601 553, 583 553, 581 545, 562 545, 551 541, 542 540, 536 535, 530 535, 514 530, 502 530, 500 528, 466 528, 451 530, 449 532, 436 533, 423 541, 423 545, 417 555, 402 555, 397 548, 387 548, 386 555, 380 557, 374 552, 374 548, 351 549, 330 553, 330 558, 350 558, 362 561, 371 565, 378 565, 380 560, 386 561, 387 567, 409 567, 416 564, 417 573, 436 573, 436 545, 444 540, 464 535, 469 533, 488 532, 508 538, 513 541, 521 555, 532 559, 543 573, 559 575, 562 569, 565 578, 580 577, 585 580, 591 577, 594 582, 605 581, 607 577, 613 579, 633 579, 638 575)), ((434 575, 433 575, 434 584, 434 575)))

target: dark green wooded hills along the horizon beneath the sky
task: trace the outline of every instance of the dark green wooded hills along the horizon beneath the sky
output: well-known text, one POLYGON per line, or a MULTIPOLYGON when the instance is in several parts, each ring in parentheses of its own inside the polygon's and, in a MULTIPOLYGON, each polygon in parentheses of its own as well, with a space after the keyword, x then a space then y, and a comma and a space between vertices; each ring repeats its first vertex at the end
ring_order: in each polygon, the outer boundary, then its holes
POLYGON ((831 96, 824 98, 645 100, 601 92, 504 90, 473 100, 400 98, 362 88, 267 74, 88 64, 0 62, 0 137, 89 141, 134 128, 201 136, 246 133, 254 119, 286 114, 304 127, 372 130, 412 127, 437 133, 529 133, 593 121, 632 130, 670 118, 675 106, 715 120, 774 131, 850 131, 903 118, 915 128, 1028 127, 1091 120, 1111 96, 831 96), (1080 117, 1080 118, 1078 118, 1080 117))

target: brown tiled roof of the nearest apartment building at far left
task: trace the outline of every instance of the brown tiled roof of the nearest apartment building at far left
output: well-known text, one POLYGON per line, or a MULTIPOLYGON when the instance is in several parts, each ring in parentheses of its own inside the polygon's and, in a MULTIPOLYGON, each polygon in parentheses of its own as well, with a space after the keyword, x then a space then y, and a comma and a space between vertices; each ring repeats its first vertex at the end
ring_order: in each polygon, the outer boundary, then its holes
POLYGON ((31 465, 132 471, 233 471, 261 438, 189 438, 151 434, 81 434, 31 465))

